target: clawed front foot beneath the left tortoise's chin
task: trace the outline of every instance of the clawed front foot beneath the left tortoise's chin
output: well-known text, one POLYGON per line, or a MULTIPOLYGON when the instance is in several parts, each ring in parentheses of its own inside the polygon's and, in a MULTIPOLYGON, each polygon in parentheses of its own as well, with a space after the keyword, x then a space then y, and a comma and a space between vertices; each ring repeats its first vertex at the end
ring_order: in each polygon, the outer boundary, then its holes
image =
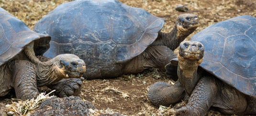
POLYGON ((82 89, 83 80, 84 77, 62 79, 48 87, 52 90, 56 90, 56 94, 60 97, 71 95, 78 96, 82 89))

